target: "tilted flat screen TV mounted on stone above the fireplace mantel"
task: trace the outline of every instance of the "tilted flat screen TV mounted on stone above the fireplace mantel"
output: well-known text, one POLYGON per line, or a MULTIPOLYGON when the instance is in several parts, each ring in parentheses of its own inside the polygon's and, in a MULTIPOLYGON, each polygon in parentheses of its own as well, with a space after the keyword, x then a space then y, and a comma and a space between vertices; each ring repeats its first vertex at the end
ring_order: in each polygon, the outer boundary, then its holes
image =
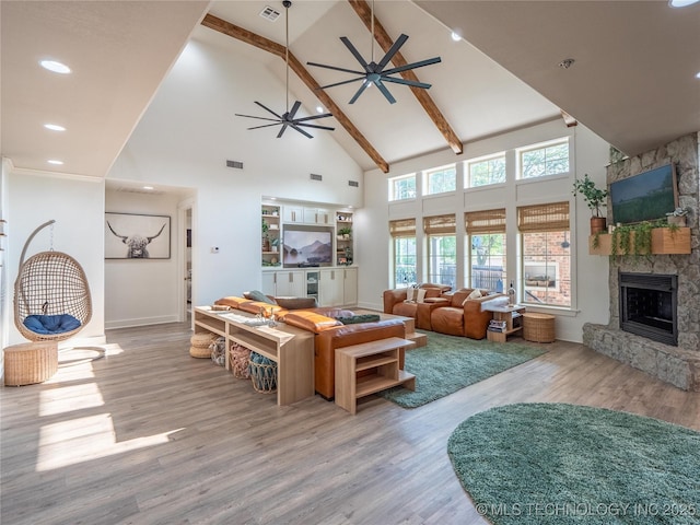
POLYGON ((612 221, 631 224, 663 219, 678 207, 678 185, 673 164, 610 184, 612 221))

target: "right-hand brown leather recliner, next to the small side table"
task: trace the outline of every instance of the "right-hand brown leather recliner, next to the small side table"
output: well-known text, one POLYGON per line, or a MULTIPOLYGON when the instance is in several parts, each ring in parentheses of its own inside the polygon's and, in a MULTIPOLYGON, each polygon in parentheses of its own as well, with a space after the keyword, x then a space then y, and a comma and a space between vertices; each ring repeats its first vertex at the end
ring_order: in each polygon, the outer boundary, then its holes
MULTIPOLYGON (((463 288, 446 294, 450 298, 450 305, 436 308, 431 313, 433 331, 451 336, 464 336, 470 339, 483 339, 486 337, 493 313, 485 312, 482 310, 483 303, 488 301, 508 302, 508 299, 502 293, 467 299, 472 291, 470 288, 463 288)), ((481 290, 481 293, 486 294, 487 292, 481 290)))

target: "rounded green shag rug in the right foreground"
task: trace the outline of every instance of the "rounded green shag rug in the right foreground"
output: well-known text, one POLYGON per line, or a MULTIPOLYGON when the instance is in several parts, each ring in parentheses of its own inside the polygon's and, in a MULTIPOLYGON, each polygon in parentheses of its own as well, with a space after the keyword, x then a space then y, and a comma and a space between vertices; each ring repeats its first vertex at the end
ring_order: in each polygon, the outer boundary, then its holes
POLYGON ((477 512, 505 524, 700 524, 700 433, 563 404, 467 419, 447 453, 477 512))

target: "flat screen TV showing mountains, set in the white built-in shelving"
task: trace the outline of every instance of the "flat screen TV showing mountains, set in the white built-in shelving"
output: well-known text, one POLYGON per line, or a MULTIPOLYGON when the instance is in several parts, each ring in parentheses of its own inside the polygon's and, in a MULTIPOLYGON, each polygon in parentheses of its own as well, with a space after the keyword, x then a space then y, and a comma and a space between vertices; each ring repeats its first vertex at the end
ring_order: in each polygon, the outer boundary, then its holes
POLYGON ((282 261, 285 268, 330 266, 332 229, 287 224, 282 232, 282 261))

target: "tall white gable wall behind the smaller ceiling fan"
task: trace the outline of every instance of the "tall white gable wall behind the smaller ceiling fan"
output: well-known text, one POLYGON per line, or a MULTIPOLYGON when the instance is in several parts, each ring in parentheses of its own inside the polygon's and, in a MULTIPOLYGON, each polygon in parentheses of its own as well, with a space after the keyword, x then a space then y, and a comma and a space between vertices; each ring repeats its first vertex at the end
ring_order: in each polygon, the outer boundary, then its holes
POLYGON ((260 288, 264 196, 362 206, 362 171, 328 131, 314 130, 314 139, 292 129, 277 139, 277 127, 248 131, 256 121, 234 114, 259 115, 254 101, 282 110, 284 85, 261 65, 234 62, 223 47, 192 39, 108 174, 112 179, 198 188, 192 212, 195 305, 260 288), (244 168, 225 167, 226 160, 241 161, 244 168), (311 173, 323 175, 323 182, 311 180, 311 173), (350 187, 350 179, 360 182, 360 188, 350 187), (220 248, 218 254, 212 246, 220 248))

